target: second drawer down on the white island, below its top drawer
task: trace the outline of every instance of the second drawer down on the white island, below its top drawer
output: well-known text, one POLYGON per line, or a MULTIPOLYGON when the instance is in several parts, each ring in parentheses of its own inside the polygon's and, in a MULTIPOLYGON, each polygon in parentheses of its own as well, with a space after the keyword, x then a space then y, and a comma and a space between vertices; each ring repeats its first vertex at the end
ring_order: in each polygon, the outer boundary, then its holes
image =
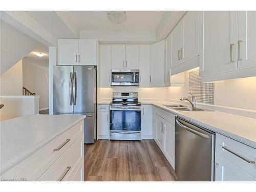
POLYGON ((72 173, 75 174, 73 170, 82 158, 83 135, 42 174, 38 181, 68 181, 69 178, 73 178, 72 173))

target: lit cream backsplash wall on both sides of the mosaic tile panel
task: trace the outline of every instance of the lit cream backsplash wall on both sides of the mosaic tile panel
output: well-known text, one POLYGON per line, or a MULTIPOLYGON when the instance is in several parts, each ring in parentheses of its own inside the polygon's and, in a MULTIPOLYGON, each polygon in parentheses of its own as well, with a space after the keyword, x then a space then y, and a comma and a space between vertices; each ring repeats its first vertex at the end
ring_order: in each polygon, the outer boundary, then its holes
MULTIPOLYGON (((169 87, 168 98, 188 97, 188 72, 185 75, 185 87, 169 87)), ((256 110, 256 77, 229 79, 215 83, 215 105, 256 110)))

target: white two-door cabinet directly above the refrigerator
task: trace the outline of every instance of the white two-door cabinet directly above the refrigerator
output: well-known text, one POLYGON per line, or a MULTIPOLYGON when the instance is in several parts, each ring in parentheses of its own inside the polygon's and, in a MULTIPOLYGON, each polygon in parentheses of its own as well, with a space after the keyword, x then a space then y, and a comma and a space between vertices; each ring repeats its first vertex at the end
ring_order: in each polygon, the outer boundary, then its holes
POLYGON ((58 39, 58 65, 96 66, 98 41, 93 39, 58 39))

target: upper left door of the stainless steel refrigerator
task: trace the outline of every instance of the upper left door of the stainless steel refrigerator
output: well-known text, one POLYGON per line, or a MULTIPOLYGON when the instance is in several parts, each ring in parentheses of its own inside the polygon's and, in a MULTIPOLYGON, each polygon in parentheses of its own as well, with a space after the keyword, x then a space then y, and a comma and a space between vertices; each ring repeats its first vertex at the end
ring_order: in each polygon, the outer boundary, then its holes
POLYGON ((73 113, 73 66, 53 66, 53 113, 73 113))

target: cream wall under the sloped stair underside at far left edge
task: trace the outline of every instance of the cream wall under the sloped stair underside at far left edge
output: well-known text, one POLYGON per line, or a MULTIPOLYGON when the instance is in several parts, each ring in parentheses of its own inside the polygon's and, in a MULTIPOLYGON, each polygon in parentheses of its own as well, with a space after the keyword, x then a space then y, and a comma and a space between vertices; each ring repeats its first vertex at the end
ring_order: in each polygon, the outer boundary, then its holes
POLYGON ((0 95, 22 95, 22 70, 22 60, 20 60, 0 76, 0 95))

